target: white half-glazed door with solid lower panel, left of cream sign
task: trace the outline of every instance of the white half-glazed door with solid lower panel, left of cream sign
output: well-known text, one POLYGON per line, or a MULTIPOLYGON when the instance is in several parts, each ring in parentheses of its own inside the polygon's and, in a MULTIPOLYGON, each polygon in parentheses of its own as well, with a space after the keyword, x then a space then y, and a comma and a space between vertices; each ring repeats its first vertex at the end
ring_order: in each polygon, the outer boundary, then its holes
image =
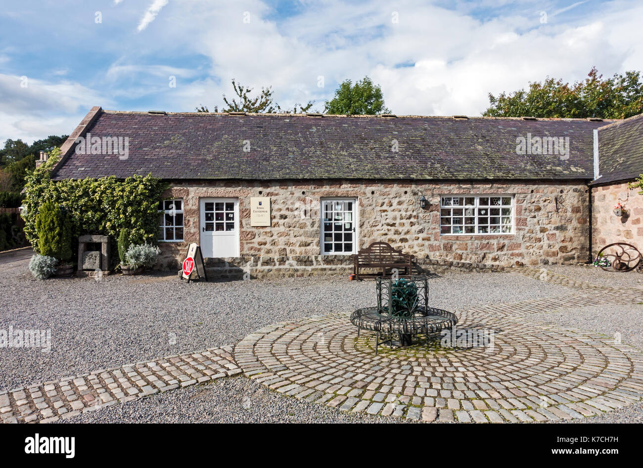
POLYGON ((239 199, 202 198, 199 211, 203 257, 239 257, 239 199))

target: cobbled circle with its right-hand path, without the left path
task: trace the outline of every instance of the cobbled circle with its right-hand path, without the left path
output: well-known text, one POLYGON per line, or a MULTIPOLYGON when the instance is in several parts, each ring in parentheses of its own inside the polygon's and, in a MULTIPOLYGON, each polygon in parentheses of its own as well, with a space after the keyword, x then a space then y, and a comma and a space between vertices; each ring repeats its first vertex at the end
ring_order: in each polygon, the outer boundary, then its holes
MULTIPOLYGON (((643 353, 614 338, 525 325, 521 316, 643 301, 643 290, 517 272, 575 290, 566 298, 457 312, 458 329, 494 330, 493 347, 381 347, 345 314, 264 327, 237 343, 244 374, 276 392, 345 411, 427 422, 547 422, 599 415, 643 399, 643 353), (384 350, 384 351, 383 351, 384 350)), ((543 274, 544 273, 544 274, 543 274)))

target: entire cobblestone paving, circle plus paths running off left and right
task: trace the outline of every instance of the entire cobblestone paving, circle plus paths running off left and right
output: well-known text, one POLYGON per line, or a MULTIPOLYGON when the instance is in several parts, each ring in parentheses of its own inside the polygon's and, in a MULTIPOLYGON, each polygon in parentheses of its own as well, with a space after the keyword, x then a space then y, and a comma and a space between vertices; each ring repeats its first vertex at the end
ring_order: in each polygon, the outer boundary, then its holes
MULTIPOLYGON (((566 297, 458 311, 458 329, 493 330, 492 346, 380 347, 347 314, 264 327, 236 346, 167 356, 0 392, 3 422, 54 422, 82 411, 241 372, 271 390, 344 411, 426 422, 582 419, 643 399, 643 352, 581 330, 521 317, 591 303, 640 303, 643 289, 602 287, 545 269, 519 275, 563 285, 566 297)), ((350 311, 347 311, 350 312, 350 311)))

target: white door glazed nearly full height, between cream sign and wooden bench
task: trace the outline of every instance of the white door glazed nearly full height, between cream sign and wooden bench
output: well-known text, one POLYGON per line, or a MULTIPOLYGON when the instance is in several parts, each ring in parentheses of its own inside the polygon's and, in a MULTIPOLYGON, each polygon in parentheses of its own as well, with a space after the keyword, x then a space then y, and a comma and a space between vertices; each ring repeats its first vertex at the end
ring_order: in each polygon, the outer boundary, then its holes
POLYGON ((357 200, 321 200, 321 253, 350 254, 357 249, 357 200))

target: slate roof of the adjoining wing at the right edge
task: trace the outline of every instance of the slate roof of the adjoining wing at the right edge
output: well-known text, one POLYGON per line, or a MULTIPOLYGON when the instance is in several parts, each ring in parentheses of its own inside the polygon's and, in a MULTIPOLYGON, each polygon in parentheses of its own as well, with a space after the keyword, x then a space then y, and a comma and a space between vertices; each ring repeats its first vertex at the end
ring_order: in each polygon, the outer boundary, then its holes
POLYGON ((626 181, 643 174, 643 114, 599 129, 599 175, 593 184, 626 181))

